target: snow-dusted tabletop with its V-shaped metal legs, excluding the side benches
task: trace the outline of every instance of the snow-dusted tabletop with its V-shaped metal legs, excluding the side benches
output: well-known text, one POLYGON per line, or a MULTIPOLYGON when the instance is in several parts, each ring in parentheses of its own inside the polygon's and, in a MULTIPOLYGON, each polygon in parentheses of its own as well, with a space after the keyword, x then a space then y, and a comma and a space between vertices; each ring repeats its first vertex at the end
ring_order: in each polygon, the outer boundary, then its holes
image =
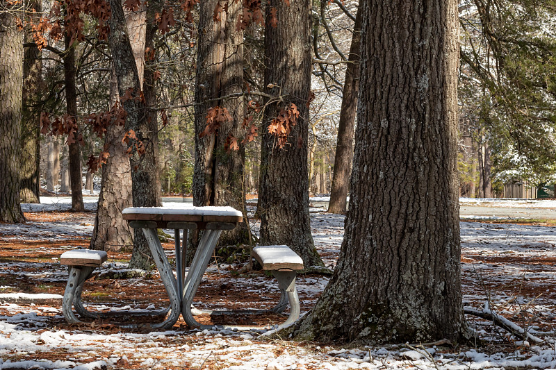
POLYGON ((204 327, 193 318, 193 298, 213 255, 220 233, 222 230, 235 228, 243 220, 241 212, 231 207, 195 207, 178 203, 164 207, 126 208, 122 211, 122 215, 129 222, 129 226, 141 228, 145 233, 154 262, 170 298, 170 314, 158 326, 171 328, 181 313, 188 326, 204 327), (172 266, 158 239, 157 228, 174 229, 177 278, 174 278, 172 266), (180 237, 181 230, 183 230, 183 243, 180 237), (204 232, 188 274, 185 275, 184 262, 189 230, 204 230, 204 232))

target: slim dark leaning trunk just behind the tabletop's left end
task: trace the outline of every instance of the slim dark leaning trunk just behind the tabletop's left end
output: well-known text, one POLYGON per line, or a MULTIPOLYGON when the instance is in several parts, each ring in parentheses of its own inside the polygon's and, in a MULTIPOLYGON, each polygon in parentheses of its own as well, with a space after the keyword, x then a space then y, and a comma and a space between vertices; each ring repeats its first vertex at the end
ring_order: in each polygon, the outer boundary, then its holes
MULTIPOLYGON (((121 0, 110 0, 110 6, 112 17, 109 22, 111 33, 108 37, 108 44, 110 45, 114 62, 118 93, 120 96, 124 96, 126 90, 131 89, 131 96, 139 97, 141 83, 129 40, 129 33, 126 28, 122 2, 121 0)), ((147 10, 147 18, 150 12, 150 10, 147 10)), ((147 22, 147 24, 149 23, 147 22)), ((149 44, 148 40, 147 44, 149 44)), ((145 96, 145 99, 149 100, 147 96, 145 96)), ((129 140, 129 146, 132 148, 129 163, 131 166, 133 206, 153 207, 161 205, 161 188, 156 165, 156 146, 158 146, 156 128, 149 123, 147 105, 142 99, 126 99, 123 102, 123 107, 128 114, 125 131, 133 130, 137 137, 137 140, 129 140), (142 155, 134 146, 139 142, 142 142, 145 146, 145 153, 142 155)), ((136 230, 135 238, 133 239, 133 255, 129 262, 129 267, 149 269, 151 263, 148 257, 149 248, 145 237, 140 230, 136 230)))

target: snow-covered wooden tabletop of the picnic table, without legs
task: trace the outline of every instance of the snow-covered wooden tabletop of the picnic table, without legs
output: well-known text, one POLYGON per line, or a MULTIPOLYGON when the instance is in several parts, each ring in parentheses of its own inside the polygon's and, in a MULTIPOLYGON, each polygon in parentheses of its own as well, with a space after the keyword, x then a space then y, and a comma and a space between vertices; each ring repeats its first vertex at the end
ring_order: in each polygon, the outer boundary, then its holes
POLYGON ((241 222, 240 211, 231 207, 195 207, 167 203, 163 207, 133 207, 122 211, 128 221, 241 222))

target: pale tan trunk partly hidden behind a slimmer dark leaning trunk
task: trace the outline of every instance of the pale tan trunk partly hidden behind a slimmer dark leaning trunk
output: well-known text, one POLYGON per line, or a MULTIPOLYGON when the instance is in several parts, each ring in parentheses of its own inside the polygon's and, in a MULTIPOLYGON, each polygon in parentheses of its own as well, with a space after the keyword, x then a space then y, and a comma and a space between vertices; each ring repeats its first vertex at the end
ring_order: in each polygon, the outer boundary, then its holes
MULTIPOLYGON (((126 24, 131 37, 131 48, 136 61, 139 83, 142 86, 145 70, 145 10, 126 12, 126 24)), ((119 98, 115 71, 112 74, 111 105, 119 98)), ((122 142, 125 128, 108 126, 104 145, 109 157, 102 166, 101 192, 91 237, 91 249, 120 251, 133 245, 133 230, 122 217, 122 210, 133 205, 131 194, 131 168, 127 146, 122 142)))

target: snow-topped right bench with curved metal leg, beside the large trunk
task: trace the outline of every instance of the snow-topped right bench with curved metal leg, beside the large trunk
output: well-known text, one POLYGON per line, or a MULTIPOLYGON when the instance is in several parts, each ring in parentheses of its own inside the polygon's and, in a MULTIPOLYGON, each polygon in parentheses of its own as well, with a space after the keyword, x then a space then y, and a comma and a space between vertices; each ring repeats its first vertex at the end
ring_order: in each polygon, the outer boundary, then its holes
POLYGON ((256 246, 253 249, 253 256, 259 261, 263 270, 271 271, 278 280, 280 301, 272 311, 282 312, 286 309, 288 302, 290 304, 288 319, 265 333, 268 335, 290 326, 300 317, 300 298, 295 289, 295 276, 297 275, 296 271, 303 269, 303 260, 286 245, 256 246))

